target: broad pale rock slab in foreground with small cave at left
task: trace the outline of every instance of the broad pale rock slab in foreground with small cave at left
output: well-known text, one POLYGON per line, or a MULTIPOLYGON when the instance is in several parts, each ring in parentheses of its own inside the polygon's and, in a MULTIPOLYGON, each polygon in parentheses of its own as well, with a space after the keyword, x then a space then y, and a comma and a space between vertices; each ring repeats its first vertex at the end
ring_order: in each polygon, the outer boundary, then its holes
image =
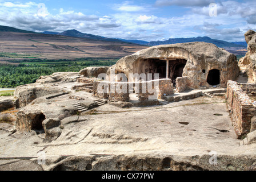
POLYGON ((255 169, 256 143, 239 146, 221 97, 150 107, 104 104, 77 114, 74 104, 89 108, 97 98, 71 90, 82 83, 56 85, 69 90, 19 109, 16 125, 31 126, 30 132, 14 133, 13 125, 0 122, 0 170, 255 169), (38 163, 42 153, 45 164, 38 163))

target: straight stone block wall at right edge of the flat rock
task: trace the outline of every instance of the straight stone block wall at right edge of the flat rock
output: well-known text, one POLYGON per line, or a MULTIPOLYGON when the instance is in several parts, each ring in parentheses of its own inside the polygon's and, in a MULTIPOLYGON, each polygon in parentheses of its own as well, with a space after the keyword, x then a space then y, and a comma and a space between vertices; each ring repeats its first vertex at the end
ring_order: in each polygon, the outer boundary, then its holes
POLYGON ((250 133, 251 118, 256 115, 256 101, 251 100, 249 92, 244 90, 254 90, 252 85, 239 84, 235 81, 227 82, 227 106, 231 113, 233 125, 237 137, 240 139, 250 133))

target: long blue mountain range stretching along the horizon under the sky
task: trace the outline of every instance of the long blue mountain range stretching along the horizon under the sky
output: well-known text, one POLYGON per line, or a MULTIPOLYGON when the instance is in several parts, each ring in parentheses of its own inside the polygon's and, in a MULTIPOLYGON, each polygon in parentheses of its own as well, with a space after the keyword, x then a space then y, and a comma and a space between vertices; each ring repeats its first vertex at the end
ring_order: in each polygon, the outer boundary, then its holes
MULTIPOLYGON (((131 46, 131 47, 137 47, 138 48, 139 46, 149 47, 149 46, 157 46, 157 45, 160 45, 160 44, 175 44, 175 43, 187 43, 187 42, 207 42, 207 43, 213 43, 217 47, 225 48, 227 51, 229 51, 231 53, 234 53, 235 55, 245 55, 246 48, 247 48, 247 43, 246 42, 226 42, 226 41, 223 41, 223 40, 211 39, 207 36, 203 36, 203 37, 199 36, 197 38, 175 38, 175 39, 168 39, 168 40, 163 40, 163 41, 146 42, 146 41, 143 41, 143 40, 106 38, 106 37, 99 36, 99 35, 85 34, 85 33, 79 32, 77 30, 67 30, 67 31, 64 31, 64 32, 45 31, 45 32, 38 33, 38 32, 33 32, 33 31, 20 30, 18 28, 13 28, 13 27, 0 26, 0 32, 16 32, 16 33, 21 33, 21 34, 33 34, 34 37, 39 36, 40 37, 39 39, 41 39, 41 40, 47 39, 46 43, 44 41, 43 42, 45 44, 49 44, 51 46, 53 46, 54 43, 53 43, 53 41, 50 41, 50 39, 52 39, 52 40, 62 39, 63 40, 63 37, 69 37, 70 41, 73 44, 74 39, 71 40, 71 38, 81 38, 79 40, 83 40, 85 42, 86 41, 89 41, 90 43, 92 43, 92 41, 97 42, 98 47, 100 47, 101 49, 105 49, 105 50, 108 50, 108 51, 110 51, 110 50, 111 51, 118 51, 118 50, 124 51, 123 53, 126 52, 125 55, 127 53, 131 53, 131 51, 126 50, 127 48, 125 47, 125 45, 128 45, 128 47, 131 46), (35 35, 37 35, 37 36, 35 36, 35 35), (50 43, 49 43, 49 41, 50 41, 50 43), (109 43, 107 43, 107 42, 109 42, 109 43), (118 47, 117 43, 122 43, 123 46, 118 47)), ((34 42, 38 42, 38 40, 34 40, 34 42)), ((55 45, 54 48, 65 49, 61 45, 59 45, 59 46, 55 45)), ((66 48, 70 48, 70 47, 66 47, 66 48)), ((135 48, 134 50, 137 50, 137 48, 135 48)), ((76 48, 73 48, 73 49, 76 50, 76 48)), ((131 48, 129 48, 129 49, 131 49, 131 48)), ((86 51, 83 50, 83 52, 86 52, 86 51)), ((134 51, 132 51, 132 52, 134 52, 134 51)), ((123 55, 123 54, 121 54, 121 55, 123 55)))

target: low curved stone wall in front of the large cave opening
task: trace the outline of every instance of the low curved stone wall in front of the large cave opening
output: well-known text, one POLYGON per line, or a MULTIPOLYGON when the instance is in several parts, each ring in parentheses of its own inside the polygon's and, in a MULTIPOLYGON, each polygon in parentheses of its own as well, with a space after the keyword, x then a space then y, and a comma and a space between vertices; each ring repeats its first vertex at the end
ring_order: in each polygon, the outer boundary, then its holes
POLYGON ((146 82, 94 81, 93 84, 93 95, 95 97, 109 99, 110 102, 129 102, 130 93, 137 93, 139 101, 146 101, 149 99, 162 99, 163 96, 173 94, 174 91, 170 79, 146 82), (152 97, 150 98, 150 96, 152 97))

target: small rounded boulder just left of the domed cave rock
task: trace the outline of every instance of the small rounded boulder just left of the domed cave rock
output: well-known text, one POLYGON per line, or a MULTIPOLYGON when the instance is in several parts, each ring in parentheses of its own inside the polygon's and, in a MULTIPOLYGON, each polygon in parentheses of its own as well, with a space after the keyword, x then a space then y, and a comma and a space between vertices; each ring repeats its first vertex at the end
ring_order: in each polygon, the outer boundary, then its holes
POLYGON ((79 74, 83 75, 85 77, 98 77, 101 73, 107 73, 107 70, 109 67, 87 67, 85 69, 82 69, 79 74))

